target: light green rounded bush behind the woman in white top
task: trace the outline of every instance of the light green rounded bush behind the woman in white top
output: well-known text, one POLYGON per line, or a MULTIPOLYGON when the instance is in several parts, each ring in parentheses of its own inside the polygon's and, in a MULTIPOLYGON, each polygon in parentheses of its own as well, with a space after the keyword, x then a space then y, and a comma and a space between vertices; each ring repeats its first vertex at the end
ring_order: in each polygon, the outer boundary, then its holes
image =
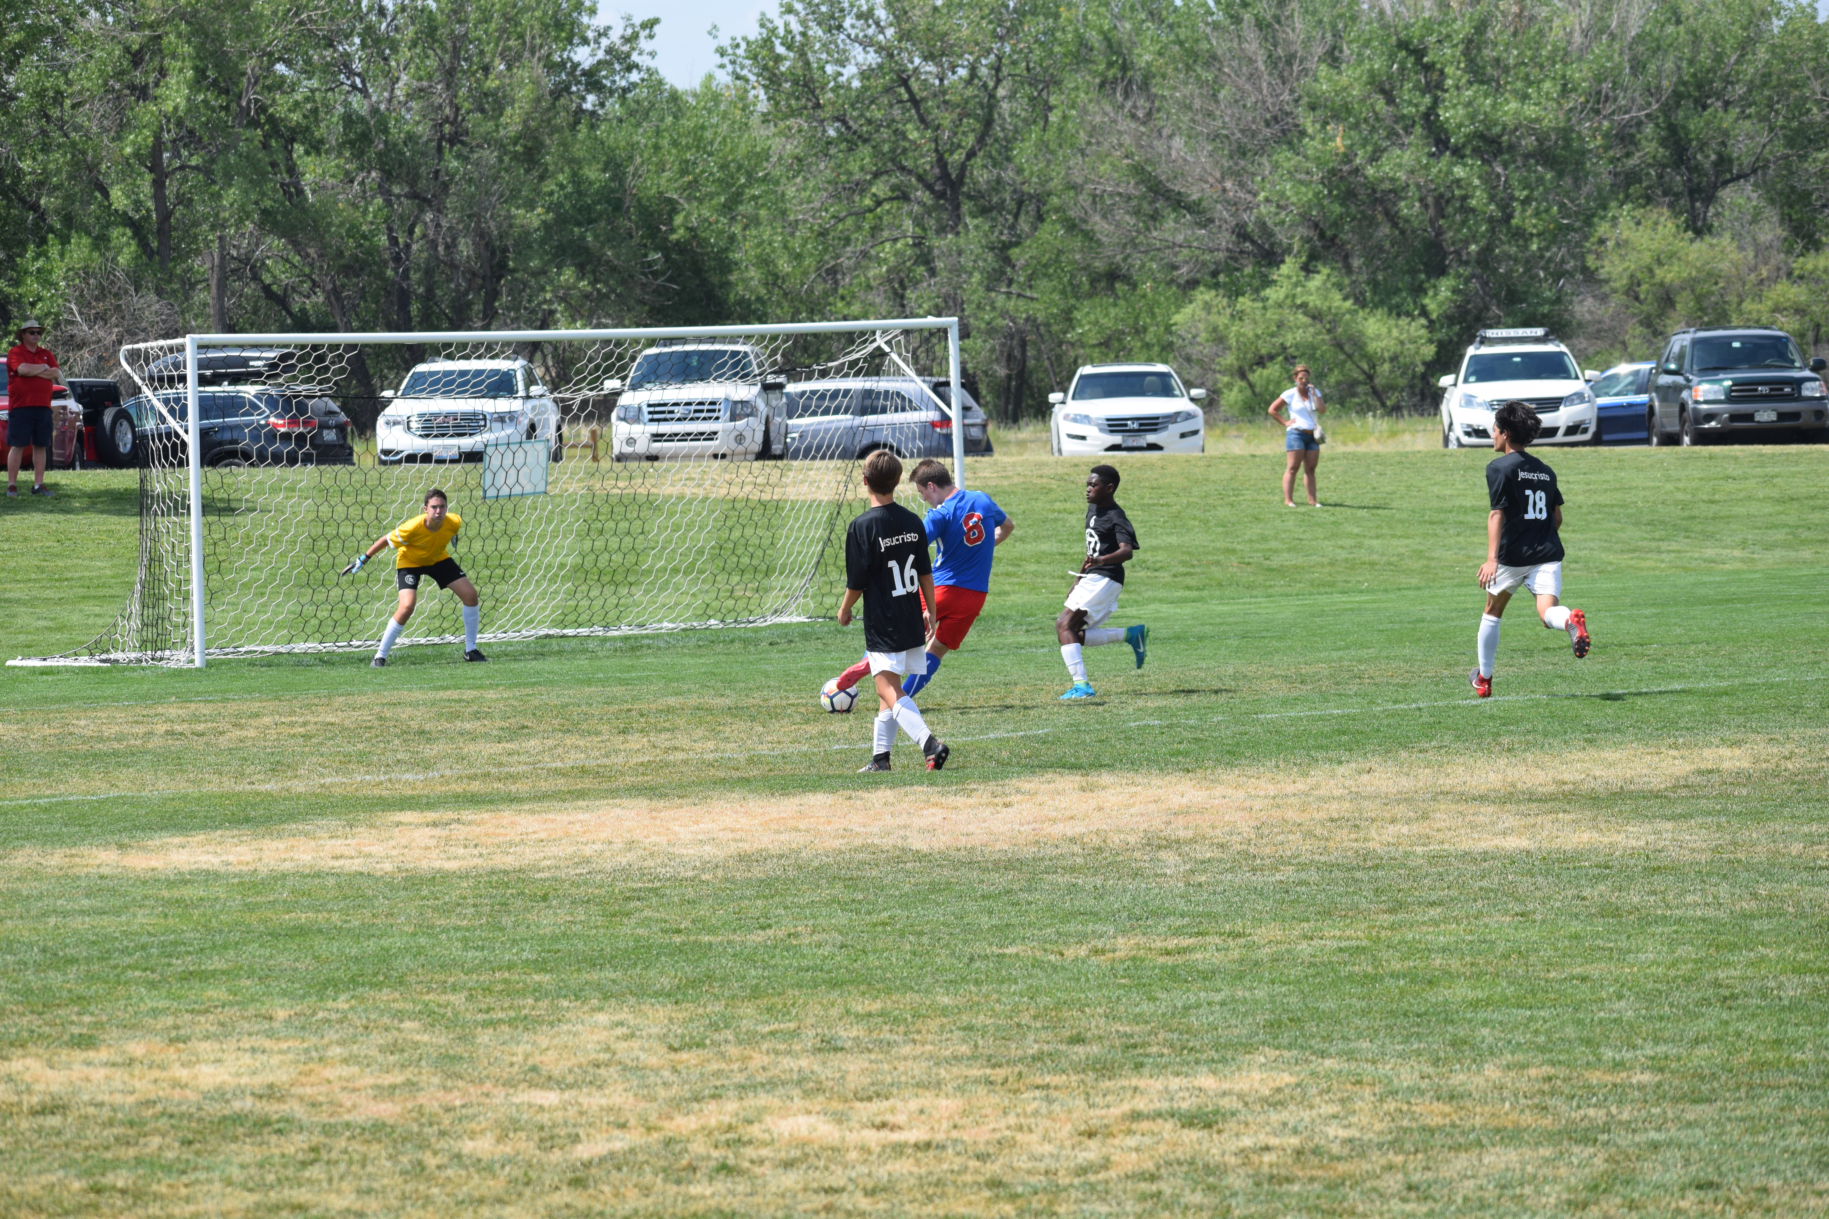
POLYGON ((1295 260, 1253 296, 1196 292, 1176 325, 1240 419, 1288 389, 1295 364, 1310 366, 1333 408, 1396 411, 1434 349, 1421 318, 1355 305, 1339 272, 1304 272, 1295 260))

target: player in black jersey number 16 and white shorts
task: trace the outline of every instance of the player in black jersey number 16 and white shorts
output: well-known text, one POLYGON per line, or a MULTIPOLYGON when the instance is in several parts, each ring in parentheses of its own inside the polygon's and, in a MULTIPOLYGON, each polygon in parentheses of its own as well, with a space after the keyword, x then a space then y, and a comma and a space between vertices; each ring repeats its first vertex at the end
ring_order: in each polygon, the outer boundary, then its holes
POLYGON ((951 753, 929 731, 914 700, 902 693, 902 678, 927 671, 927 627, 933 598, 933 565, 927 559, 927 526, 896 503, 902 462, 878 450, 863 461, 863 490, 871 510, 845 530, 845 598, 838 625, 850 625, 850 607, 863 598, 863 651, 876 684, 876 740, 865 771, 889 769, 889 747, 900 726, 920 746, 927 769, 946 766, 951 753))

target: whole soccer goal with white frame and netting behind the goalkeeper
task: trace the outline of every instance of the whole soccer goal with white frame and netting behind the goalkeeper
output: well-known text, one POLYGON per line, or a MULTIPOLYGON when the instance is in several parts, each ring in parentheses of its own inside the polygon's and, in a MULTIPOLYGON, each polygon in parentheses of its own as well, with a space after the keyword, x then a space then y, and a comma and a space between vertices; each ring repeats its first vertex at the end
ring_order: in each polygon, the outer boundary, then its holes
MULTIPOLYGON (((957 318, 192 334, 121 362, 139 574, 86 647, 9 663, 373 649, 391 563, 338 572, 430 488, 463 517, 483 640, 803 621, 836 599, 869 451, 964 484, 988 448, 957 318)), ((401 645, 461 638, 432 596, 401 645)))

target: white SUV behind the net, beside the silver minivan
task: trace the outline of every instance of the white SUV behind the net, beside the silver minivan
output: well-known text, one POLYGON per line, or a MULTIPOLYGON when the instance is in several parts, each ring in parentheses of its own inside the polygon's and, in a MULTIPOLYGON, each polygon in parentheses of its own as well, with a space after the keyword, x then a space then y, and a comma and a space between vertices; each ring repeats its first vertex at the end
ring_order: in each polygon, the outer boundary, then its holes
POLYGON ((635 360, 629 380, 605 380, 616 398, 616 461, 766 461, 785 444, 785 380, 763 380, 750 344, 677 338, 635 360))

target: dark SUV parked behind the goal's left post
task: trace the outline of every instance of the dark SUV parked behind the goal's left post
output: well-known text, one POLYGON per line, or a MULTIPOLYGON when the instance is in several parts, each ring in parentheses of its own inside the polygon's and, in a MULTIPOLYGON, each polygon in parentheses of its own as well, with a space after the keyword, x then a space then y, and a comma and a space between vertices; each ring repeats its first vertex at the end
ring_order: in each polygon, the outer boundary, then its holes
MULTIPOLYGON (((190 424, 185 393, 161 389, 157 400, 155 406, 152 397, 141 395, 126 404, 139 426, 144 461, 183 466, 188 461, 185 442, 190 424)), ((349 419, 335 402, 307 389, 225 386, 199 391, 198 440, 205 466, 355 464, 349 419)))

